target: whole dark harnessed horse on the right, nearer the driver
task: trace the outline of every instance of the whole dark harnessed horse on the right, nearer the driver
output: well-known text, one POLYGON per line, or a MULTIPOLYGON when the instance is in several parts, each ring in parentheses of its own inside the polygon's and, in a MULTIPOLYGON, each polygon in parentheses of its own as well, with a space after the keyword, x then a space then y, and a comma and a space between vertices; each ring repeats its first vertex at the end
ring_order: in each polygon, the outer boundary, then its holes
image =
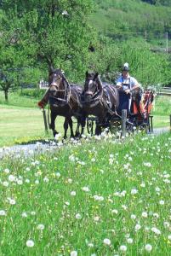
POLYGON ((117 111, 118 92, 112 84, 103 85, 99 73, 87 71, 81 102, 86 117, 90 114, 98 118, 95 134, 100 135, 102 127, 109 125, 108 120, 117 111))

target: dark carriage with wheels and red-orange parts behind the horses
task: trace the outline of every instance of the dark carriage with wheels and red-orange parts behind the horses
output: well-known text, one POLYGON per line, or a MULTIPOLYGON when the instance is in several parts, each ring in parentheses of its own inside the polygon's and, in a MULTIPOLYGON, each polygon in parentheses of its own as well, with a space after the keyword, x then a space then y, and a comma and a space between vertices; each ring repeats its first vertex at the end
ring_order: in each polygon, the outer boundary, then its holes
MULTIPOLYGON (((119 94, 119 108, 117 113, 111 113, 110 119, 106 119, 104 127, 108 127, 109 131, 116 132, 121 130, 122 133, 133 133, 135 130, 145 130, 145 132, 153 132, 153 115, 151 115, 151 108, 153 102, 153 92, 145 90, 142 93, 142 100, 139 103, 140 112, 137 109, 137 104, 133 100, 132 112, 128 111, 129 96, 119 94)), ((86 127, 88 134, 93 136, 95 134, 95 126, 98 125, 98 118, 89 115, 86 119, 86 127)))

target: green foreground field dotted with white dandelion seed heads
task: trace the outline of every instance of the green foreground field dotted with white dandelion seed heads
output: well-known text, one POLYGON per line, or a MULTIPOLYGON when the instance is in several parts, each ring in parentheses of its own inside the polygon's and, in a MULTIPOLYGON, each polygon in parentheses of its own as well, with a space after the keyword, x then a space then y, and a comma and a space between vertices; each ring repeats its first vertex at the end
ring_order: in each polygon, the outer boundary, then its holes
POLYGON ((0 255, 170 255, 171 137, 83 138, 0 164, 0 255))

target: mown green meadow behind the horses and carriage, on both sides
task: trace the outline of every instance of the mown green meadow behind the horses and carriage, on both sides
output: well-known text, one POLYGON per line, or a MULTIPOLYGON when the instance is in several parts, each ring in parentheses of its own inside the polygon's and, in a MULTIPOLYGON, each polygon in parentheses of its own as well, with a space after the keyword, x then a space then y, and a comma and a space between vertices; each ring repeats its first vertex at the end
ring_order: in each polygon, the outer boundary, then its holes
MULTIPOLYGON (((43 113, 37 108, 37 102, 41 97, 20 96, 20 93, 9 94, 9 103, 4 101, 0 94, 0 147, 10 146, 16 143, 53 138, 52 132, 44 131, 43 113)), ((48 114, 48 109, 46 109, 48 114)), ((169 115, 171 113, 171 97, 157 96, 154 115, 154 127, 169 127, 169 115)), ((74 119, 74 122, 76 120, 74 119)), ((56 129, 63 134, 64 119, 58 117, 56 129)), ((70 137, 70 131, 68 131, 70 137)))

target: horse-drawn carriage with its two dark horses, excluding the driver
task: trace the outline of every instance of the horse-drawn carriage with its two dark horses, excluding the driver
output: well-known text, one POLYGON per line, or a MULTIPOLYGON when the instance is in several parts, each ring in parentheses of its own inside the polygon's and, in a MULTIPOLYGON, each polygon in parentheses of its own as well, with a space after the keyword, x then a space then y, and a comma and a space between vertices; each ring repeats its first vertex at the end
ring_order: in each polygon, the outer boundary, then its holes
POLYGON ((118 90, 114 84, 102 84, 99 73, 86 73, 84 87, 68 83, 60 69, 53 69, 49 73, 49 89, 43 99, 38 102, 43 108, 49 102, 51 124, 54 137, 55 118, 57 115, 65 117, 65 138, 68 125, 71 137, 74 136, 72 119, 77 119, 76 135, 83 134, 84 127, 90 135, 100 135, 104 128, 111 132, 121 126, 123 132, 133 132, 135 129, 152 131, 151 105, 153 92, 151 90, 134 90, 132 95, 131 113, 128 112, 130 95, 124 90, 118 90), (141 96, 140 96, 141 94, 141 96), (141 100, 140 100, 141 98, 141 100), (79 128, 82 128, 79 131, 79 128))

